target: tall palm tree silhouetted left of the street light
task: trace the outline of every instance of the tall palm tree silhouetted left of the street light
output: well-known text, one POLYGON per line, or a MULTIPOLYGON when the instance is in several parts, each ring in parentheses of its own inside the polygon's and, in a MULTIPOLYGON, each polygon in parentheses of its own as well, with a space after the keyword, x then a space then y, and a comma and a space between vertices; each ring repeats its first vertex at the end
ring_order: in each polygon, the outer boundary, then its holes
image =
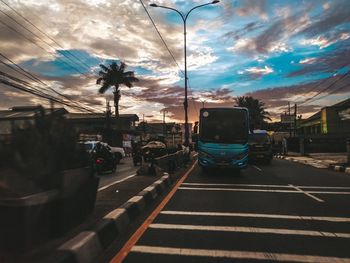
POLYGON ((96 84, 102 84, 99 93, 105 93, 110 87, 114 87, 113 95, 114 95, 114 107, 115 107, 115 116, 119 117, 119 100, 120 100, 120 85, 125 85, 128 88, 132 87, 133 82, 139 81, 138 78, 135 77, 133 71, 125 71, 126 64, 124 62, 120 62, 120 65, 116 62, 112 62, 108 67, 105 65, 100 65, 101 71, 98 73, 100 76, 96 84))

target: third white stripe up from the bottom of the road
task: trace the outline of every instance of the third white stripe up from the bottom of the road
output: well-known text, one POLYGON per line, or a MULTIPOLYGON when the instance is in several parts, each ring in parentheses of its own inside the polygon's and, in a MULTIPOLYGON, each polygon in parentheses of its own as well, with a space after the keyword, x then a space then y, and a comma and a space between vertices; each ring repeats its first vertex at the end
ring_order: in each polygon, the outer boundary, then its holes
POLYGON ((222 217, 257 217, 273 219, 294 219, 294 220, 314 220, 328 222, 347 222, 348 217, 323 217, 323 216, 294 216, 294 215, 274 215, 274 214, 255 214, 255 213, 227 213, 227 212, 189 212, 189 211, 169 211, 160 212, 163 215, 188 215, 188 216, 222 216, 222 217))

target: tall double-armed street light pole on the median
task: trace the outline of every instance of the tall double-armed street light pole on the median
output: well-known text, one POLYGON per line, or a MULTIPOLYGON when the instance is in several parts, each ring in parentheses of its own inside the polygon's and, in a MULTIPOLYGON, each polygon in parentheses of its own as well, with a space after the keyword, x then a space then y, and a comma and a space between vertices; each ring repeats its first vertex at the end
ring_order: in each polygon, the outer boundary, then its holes
POLYGON ((188 146, 190 144, 190 141, 189 141, 189 137, 190 137, 190 132, 189 132, 189 127, 188 127, 188 99, 187 99, 187 50, 186 50, 186 42, 187 42, 187 28, 186 28, 186 21, 187 21, 187 18, 188 18, 188 15, 194 10, 194 9, 197 9, 197 8, 200 8, 200 7, 203 7, 203 6, 207 6, 207 5, 213 5, 213 4, 217 4, 219 3, 220 1, 219 0, 215 0, 215 1, 212 1, 210 3, 207 3, 207 4, 203 4, 203 5, 198 5, 198 6, 195 6, 193 8, 190 9, 190 11, 187 12, 187 14, 184 16, 180 11, 178 11, 177 9, 175 8, 172 8, 172 7, 167 7, 167 6, 162 6, 162 5, 157 5, 157 4, 150 4, 150 6, 152 7, 160 7, 160 8, 165 8, 165 9, 169 9, 169 10, 172 10, 172 11, 175 11, 176 13, 178 13, 180 15, 180 17, 182 18, 182 21, 183 21, 183 24, 184 24, 184 57, 185 57, 185 101, 184 101, 184 109, 185 109, 185 146, 188 146))

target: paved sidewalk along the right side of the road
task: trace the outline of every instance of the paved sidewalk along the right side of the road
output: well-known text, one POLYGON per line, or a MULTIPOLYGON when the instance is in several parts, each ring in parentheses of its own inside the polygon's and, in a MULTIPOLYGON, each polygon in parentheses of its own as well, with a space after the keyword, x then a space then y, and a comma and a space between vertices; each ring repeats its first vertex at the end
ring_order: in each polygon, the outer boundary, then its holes
POLYGON ((288 152, 288 155, 276 155, 278 159, 298 162, 320 169, 332 169, 350 174, 346 153, 310 153, 302 156, 300 153, 288 152))

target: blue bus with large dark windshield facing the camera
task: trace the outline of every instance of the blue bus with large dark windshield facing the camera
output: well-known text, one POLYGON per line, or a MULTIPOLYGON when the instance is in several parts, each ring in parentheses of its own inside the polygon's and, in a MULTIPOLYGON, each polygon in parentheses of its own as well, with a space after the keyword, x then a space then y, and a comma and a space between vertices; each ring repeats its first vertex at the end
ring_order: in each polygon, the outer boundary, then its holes
POLYGON ((197 139, 198 163, 207 168, 246 168, 248 163, 248 109, 203 108, 197 139))

